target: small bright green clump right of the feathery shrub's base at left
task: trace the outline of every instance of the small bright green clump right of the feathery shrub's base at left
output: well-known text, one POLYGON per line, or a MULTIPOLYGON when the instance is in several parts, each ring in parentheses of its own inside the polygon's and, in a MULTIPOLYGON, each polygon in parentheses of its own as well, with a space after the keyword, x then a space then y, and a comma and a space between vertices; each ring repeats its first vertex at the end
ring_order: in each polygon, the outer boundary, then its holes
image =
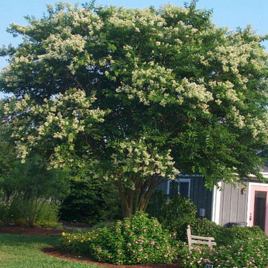
POLYGON ((56 228, 61 227, 58 223, 58 214, 60 205, 54 202, 45 203, 41 210, 36 214, 36 225, 43 228, 56 228))

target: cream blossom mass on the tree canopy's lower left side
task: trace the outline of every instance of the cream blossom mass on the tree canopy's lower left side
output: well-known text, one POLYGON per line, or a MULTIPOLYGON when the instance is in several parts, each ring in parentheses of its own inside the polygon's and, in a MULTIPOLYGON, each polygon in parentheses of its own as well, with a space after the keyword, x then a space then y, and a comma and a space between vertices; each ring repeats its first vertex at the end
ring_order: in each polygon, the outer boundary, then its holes
MULTIPOLYGON (((74 150, 74 140, 79 133, 91 133, 92 124, 103 122, 104 111, 91 109, 91 103, 95 100, 95 97, 88 98, 85 91, 70 89, 57 98, 45 100, 41 105, 34 104, 27 95, 9 105, 5 104, 5 114, 15 114, 12 137, 18 140, 18 157, 25 159, 36 146, 49 146, 51 139, 59 139, 58 144, 65 142, 63 148, 67 145, 69 150, 74 150)), ((52 157, 54 161, 57 159, 57 163, 63 162, 61 148, 61 145, 56 145, 52 157)))

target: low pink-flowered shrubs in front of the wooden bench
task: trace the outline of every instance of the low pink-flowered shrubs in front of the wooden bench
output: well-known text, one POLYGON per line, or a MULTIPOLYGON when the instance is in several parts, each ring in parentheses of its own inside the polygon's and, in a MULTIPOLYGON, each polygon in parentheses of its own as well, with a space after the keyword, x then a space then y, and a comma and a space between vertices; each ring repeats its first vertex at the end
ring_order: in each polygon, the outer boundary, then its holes
POLYGON ((265 268, 268 267, 268 239, 248 238, 218 249, 197 246, 191 252, 184 244, 179 249, 179 263, 184 268, 205 267, 205 264, 214 267, 265 268))

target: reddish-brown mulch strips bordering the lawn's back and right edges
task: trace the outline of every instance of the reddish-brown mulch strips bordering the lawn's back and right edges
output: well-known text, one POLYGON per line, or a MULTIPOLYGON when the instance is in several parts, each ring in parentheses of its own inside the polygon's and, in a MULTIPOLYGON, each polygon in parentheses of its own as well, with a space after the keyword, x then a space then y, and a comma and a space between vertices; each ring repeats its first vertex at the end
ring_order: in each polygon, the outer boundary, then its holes
MULTIPOLYGON (((77 224, 65 225, 66 227, 87 227, 85 225, 79 226, 77 224)), ((27 235, 38 235, 38 236, 56 236, 63 232, 63 229, 45 229, 40 227, 25 228, 25 227, 0 227, 0 234, 27 234, 27 235)), ((142 265, 111 265, 109 263, 98 263, 89 257, 78 256, 78 254, 71 254, 67 252, 60 252, 56 247, 46 247, 42 250, 45 254, 54 256, 57 258, 63 258, 65 260, 71 260, 75 262, 88 263, 90 265, 96 265, 99 267, 108 268, 182 268, 177 263, 167 264, 142 264, 142 265)))

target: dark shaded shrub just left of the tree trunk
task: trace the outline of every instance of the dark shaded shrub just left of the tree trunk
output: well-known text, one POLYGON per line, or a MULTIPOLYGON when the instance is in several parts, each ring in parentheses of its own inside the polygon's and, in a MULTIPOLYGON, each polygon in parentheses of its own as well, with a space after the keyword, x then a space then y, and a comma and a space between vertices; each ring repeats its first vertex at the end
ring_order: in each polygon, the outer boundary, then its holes
POLYGON ((61 219, 99 221, 122 219, 118 190, 99 179, 71 180, 70 192, 60 207, 61 219), (90 208, 90 209, 89 209, 90 208))

